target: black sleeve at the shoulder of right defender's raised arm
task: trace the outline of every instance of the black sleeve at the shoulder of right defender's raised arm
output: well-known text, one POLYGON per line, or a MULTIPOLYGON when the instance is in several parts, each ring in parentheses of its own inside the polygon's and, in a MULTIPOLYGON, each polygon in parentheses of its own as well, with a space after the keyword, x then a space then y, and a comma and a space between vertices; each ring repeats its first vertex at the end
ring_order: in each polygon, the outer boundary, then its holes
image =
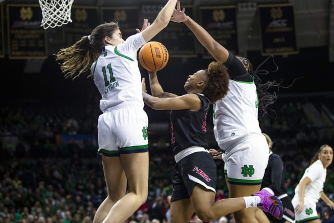
POLYGON ((234 81, 253 82, 253 78, 247 72, 242 62, 229 51, 227 61, 224 65, 228 69, 230 79, 234 81))

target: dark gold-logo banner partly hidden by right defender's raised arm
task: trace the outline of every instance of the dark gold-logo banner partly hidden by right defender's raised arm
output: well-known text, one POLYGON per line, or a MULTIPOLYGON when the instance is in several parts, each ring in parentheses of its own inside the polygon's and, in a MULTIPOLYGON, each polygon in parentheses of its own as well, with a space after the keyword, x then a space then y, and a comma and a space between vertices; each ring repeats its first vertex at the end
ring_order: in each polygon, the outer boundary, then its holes
MULTIPOLYGON (((238 54, 235 6, 200 7, 202 27, 233 54, 238 54)), ((203 57, 212 58, 203 47, 203 57)))

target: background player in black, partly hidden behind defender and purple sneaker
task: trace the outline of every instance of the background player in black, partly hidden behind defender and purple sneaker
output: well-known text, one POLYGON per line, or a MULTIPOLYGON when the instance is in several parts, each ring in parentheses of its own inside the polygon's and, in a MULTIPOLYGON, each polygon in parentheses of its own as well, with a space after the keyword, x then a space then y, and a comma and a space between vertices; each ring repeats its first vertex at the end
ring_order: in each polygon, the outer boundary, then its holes
MULTIPOLYGON (((283 217, 281 220, 273 218, 270 214, 267 214, 268 219, 274 223, 295 223, 295 208, 291 203, 291 198, 287 195, 286 189, 284 186, 285 180, 283 175, 283 161, 282 159, 275 153, 271 151, 273 146, 273 141, 269 137, 269 135, 262 133, 267 140, 269 146, 269 160, 268 166, 265 170, 265 174, 263 176, 261 188, 270 188, 274 191, 275 195, 281 199, 283 204, 283 217)), ((260 210, 258 210, 260 211, 260 210)), ((257 216, 258 211, 256 211, 255 215, 257 216)))

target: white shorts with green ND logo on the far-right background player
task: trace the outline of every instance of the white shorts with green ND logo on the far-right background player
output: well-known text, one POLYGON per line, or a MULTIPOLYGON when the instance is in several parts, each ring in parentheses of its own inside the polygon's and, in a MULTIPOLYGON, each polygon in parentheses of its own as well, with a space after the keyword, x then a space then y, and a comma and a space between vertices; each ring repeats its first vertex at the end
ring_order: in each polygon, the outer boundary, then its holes
MULTIPOLYGON (((295 196, 291 200, 291 203, 294 205, 294 208, 296 209, 296 207, 299 203, 298 196, 297 197, 295 196)), ((303 209, 302 213, 300 213, 300 214, 295 212, 295 218, 296 218, 297 221, 303 221, 303 222, 318 219, 319 216, 318 216, 318 212, 317 212, 317 209, 316 209, 316 203, 310 201, 307 198, 304 198, 304 209, 303 209)))

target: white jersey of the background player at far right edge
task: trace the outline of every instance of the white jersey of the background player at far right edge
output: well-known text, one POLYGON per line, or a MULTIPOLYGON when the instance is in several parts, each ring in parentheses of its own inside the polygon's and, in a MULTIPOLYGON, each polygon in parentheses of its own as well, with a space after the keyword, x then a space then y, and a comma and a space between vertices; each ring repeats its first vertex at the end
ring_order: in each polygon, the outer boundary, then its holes
MULTIPOLYGON (((301 180, 304 179, 305 177, 309 177, 311 179, 311 183, 308 184, 305 188, 304 200, 307 199, 312 202, 319 201, 320 196, 322 194, 323 185, 326 180, 326 174, 327 170, 326 168, 323 168, 323 165, 320 160, 317 160, 305 170, 301 180)), ((298 192, 299 192, 299 184, 296 186, 295 197, 294 197, 294 199, 299 201, 298 192)))

